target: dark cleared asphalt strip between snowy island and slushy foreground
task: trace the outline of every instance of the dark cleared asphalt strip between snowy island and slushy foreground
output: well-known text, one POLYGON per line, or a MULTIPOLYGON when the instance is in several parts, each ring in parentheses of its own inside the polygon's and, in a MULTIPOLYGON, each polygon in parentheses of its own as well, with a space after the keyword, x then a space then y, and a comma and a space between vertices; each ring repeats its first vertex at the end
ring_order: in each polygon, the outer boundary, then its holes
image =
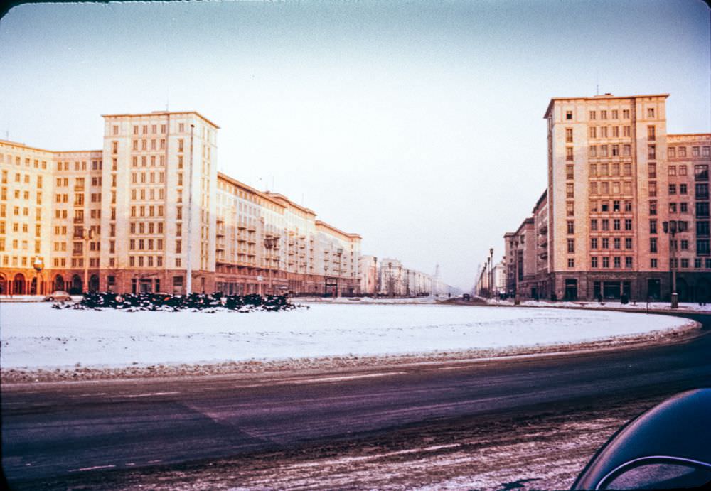
MULTIPOLYGON (((710 318, 697 316, 705 330, 710 318)), ((11 486, 35 487, 710 385, 711 335, 634 350, 336 374, 11 385, 2 388, 2 464, 11 486)))

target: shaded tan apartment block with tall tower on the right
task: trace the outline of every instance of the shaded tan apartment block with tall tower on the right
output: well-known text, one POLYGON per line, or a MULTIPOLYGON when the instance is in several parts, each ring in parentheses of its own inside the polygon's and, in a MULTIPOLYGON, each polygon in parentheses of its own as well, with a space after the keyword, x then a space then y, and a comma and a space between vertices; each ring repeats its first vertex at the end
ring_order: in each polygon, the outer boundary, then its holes
POLYGON ((711 135, 667 134, 667 97, 551 99, 548 186, 526 231, 537 247, 521 245, 520 229, 505 236, 507 261, 515 246, 535 273, 510 279, 510 293, 668 298, 673 267, 681 301, 710 296, 711 135), (683 222, 674 242, 670 221, 683 222))

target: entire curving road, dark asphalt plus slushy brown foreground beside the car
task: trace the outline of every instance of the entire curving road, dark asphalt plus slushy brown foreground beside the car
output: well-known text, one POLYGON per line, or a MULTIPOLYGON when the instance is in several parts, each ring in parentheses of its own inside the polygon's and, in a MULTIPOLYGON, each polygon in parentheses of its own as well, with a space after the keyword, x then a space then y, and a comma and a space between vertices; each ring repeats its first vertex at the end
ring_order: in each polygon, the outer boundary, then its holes
MULTIPOLYGON (((705 330, 709 317, 695 316, 705 330)), ((525 487, 518 481, 527 475, 555 487, 621 422, 709 386, 710 354, 711 335, 702 335, 634 350, 338 373, 5 385, 2 463, 11 487, 28 489, 506 488, 525 487), (534 454, 538 467, 522 470, 534 454), (497 468, 488 481, 471 480, 497 468)))

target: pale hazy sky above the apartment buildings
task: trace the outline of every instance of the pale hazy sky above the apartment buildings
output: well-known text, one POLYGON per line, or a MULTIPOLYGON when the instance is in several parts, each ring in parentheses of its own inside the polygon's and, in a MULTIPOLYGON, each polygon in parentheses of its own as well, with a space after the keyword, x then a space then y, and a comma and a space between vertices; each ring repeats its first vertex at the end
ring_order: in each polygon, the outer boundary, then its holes
POLYGON ((0 138, 100 149, 101 114, 196 110, 218 168, 469 290, 546 186, 552 97, 668 93, 711 131, 702 1, 23 4, 0 19, 0 138))

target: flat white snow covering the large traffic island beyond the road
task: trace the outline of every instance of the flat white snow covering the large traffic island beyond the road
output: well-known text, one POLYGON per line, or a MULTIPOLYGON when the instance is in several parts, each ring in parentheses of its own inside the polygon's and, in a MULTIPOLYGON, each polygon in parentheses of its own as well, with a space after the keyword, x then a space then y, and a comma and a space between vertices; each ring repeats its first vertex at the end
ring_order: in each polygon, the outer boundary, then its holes
POLYGON ((560 345, 688 328, 662 315, 547 308, 313 304, 287 312, 0 306, 0 366, 135 367, 560 345))

